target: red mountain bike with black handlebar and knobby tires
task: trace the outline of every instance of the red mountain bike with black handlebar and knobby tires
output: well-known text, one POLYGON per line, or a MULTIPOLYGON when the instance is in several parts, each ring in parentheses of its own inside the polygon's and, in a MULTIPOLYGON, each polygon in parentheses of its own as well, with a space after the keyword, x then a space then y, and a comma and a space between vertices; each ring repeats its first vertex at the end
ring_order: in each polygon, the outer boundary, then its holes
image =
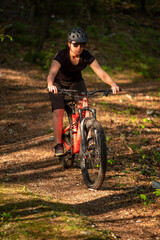
POLYGON ((104 129, 96 119, 96 109, 89 107, 88 98, 101 93, 108 96, 112 90, 79 92, 58 89, 58 93, 69 97, 65 99, 64 128, 62 143, 65 152, 59 157, 64 168, 70 168, 79 154, 80 168, 88 188, 98 189, 105 178, 107 167, 107 146, 104 129), (76 102, 80 106, 76 109, 76 102))

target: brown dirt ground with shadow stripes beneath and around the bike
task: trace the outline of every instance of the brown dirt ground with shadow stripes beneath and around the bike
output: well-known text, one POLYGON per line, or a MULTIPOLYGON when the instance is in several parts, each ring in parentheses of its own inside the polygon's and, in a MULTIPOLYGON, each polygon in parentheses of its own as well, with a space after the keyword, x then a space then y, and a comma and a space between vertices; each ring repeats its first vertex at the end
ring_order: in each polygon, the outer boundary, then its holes
MULTIPOLYGON (((0 180, 71 204, 115 239, 158 240, 160 199, 152 184, 160 181, 160 84, 133 82, 127 73, 115 77, 122 93, 91 103, 105 129, 109 160, 103 186, 94 191, 78 166, 63 170, 54 158, 46 74, 1 68, 0 180)), ((91 89, 87 73, 86 79, 91 89)), ((96 77, 94 83, 104 87, 96 77)))

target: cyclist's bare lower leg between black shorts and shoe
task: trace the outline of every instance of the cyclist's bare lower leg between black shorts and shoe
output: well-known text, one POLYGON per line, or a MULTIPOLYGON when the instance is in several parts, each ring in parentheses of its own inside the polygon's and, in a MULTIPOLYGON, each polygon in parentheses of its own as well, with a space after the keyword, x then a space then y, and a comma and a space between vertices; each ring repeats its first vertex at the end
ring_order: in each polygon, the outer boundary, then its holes
POLYGON ((55 136, 55 145, 61 143, 62 128, 63 128, 63 113, 64 109, 56 109, 53 111, 53 132, 55 136))

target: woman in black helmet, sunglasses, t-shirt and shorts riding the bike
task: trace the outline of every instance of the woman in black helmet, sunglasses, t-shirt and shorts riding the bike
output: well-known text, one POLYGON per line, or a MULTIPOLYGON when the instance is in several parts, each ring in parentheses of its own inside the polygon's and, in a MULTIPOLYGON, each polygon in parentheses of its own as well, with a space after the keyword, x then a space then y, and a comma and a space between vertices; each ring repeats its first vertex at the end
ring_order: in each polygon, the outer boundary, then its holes
POLYGON ((114 94, 119 91, 119 87, 101 68, 95 57, 85 49, 87 42, 84 30, 73 28, 68 34, 68 46, 55 55, 47 77, 53 112, 55 156, 63 155, 64 152, 61 144, 64 97, 57 94, 57 88, 87 91, 81 71, 89 65, 101 80, 111 86, 114 94))

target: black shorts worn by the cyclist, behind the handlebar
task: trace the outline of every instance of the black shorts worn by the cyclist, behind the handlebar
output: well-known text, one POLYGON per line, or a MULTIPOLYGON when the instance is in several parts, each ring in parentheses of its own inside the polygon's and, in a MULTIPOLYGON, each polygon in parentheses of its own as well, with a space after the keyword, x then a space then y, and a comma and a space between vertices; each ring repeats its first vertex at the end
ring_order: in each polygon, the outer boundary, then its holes
MULTIPOLYGON (((73 82, 69 87, 63 86, 60 83, 55 82, 54 85, 57 88, 61 89, 73 89, 73 90, 78 90, 80 92, 85 92, 87 91, 86 84, 83 79, 77 82, 73 82)), ((51 106, 52 106, 52 112, 56 109, 64 109, 64 96, 60 94, 54 94, 53 92, 49 92, 49 97, 51 101, 51 106)))

